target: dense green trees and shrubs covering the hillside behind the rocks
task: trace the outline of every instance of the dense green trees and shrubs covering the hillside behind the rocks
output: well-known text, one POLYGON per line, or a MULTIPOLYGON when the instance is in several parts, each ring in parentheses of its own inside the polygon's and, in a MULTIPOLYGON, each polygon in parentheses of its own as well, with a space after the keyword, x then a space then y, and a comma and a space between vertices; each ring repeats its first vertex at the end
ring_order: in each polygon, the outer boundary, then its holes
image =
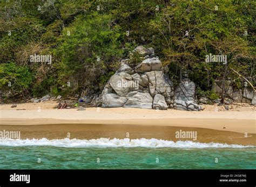
POLYGON ((0 89, 12 96, 97 92, 138 45, 155 49, 174 84, 187 71, 209 97, 218 78, 255 85, 255 4, 1 1, 0 89), (205 62, 210 53, 227 55, 227 64, 205 62), (52 55, 52 63, 31 62, 34 54, 52 55))

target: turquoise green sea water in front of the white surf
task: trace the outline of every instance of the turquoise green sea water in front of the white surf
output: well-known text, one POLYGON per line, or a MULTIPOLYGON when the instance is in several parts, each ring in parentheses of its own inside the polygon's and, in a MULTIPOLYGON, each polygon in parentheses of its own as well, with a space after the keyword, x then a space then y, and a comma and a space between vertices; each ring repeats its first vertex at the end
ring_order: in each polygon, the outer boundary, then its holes
POLYGON ((255 147, 0 146, 0 169, 256 169, 255 153, 255 147))

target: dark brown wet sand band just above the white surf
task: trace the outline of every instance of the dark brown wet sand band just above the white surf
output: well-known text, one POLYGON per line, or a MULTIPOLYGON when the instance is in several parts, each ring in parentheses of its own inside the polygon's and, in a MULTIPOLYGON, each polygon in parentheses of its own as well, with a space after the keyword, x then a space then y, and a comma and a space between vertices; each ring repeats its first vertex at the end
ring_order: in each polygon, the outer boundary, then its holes
POLYGON ((21 139, 63 139, 70 135, 70 139, 97 139, 97 138, 156 138, 172 140, 174 142, 196 141, 201 143, 218 142, 238 145, 256 146, 256 134, 209 130, 207 128, 171 127, 171 126, 142 126, 142 125, 95 125, 95 124, 55 124, 55 125, 0 125, 0 131, 21 131, 21 139), (176 138, 178 131, 197 132, 197 139, 176 138))

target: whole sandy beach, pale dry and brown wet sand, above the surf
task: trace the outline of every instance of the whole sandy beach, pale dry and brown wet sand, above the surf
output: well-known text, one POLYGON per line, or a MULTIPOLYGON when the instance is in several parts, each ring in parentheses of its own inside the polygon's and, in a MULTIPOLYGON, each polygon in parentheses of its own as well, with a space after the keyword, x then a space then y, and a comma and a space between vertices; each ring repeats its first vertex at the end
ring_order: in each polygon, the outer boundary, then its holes
POLYGON ((256 145, 255 107, 205 105, 200 112, 90 107, 56 110, 56 102, 0 105, 0 128, 22 131, 22 138, 135 138, 175 139, 175 132, 197 131, 199 142, 256 145), (216 107, 218 111, 216 111, 216 107), (90 133, 88 133, 90 132, 90 133), (247 137, 245 138, 245 133, 247 137))

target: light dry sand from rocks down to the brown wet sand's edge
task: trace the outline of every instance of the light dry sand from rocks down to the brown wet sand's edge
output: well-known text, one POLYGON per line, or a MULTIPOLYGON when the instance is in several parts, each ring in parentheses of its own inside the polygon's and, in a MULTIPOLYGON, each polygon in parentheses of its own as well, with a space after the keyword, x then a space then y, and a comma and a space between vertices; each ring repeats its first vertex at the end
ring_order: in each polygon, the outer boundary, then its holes
POLYGON ((105 124, 180 126, 256 134, 255 106, 205 105, 204 111, 150 110, 136 108, 88 107, 57 110, 56 102, 24 103, 11 108, 0 105, 0 125, 105 124), (215 109, 218 108, 218 111, 215 109))

